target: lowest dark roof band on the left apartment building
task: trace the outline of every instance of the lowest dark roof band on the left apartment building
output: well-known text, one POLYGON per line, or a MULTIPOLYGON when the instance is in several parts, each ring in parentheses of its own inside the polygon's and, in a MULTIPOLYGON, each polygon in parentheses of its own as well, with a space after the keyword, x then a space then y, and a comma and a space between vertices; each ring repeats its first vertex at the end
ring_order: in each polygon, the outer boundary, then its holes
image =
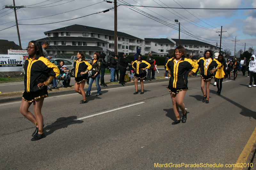
POLYGON ((77 51, 79 49, 79 51, 103 51, 103 48, 98 47, 98 46, 65 46, 65 45, 52 45, 52 46, 48 46, 48 48, 46 49, 48 50, 64 50, 64 51, 77 51))

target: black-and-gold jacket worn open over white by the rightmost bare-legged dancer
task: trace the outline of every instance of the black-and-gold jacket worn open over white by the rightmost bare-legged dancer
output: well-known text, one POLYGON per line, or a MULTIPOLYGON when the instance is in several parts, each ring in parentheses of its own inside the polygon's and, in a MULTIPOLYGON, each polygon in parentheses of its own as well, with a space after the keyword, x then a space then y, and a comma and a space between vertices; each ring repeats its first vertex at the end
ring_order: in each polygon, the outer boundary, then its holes
POLYGON ((204 57, 200 58, 199 60, 197 60, 197 64, 199 65, 199 68, 201 68, 201 75, 205 75, 205 76, 211 76, 213 75, 210 71, 215 67, 220 68, 221 67, 221 63, 218 62, 215 58, 213 59, 212 57, 210 57, 210 63, 208 65, 207 68, 205 68, 205 62, 206 59, 204 57))

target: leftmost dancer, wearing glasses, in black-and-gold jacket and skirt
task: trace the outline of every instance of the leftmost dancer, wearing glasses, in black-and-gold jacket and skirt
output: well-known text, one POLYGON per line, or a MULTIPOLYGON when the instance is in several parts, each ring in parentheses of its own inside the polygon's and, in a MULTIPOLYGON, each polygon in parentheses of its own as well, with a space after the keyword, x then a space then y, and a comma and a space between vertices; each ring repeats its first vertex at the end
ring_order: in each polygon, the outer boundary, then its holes
POLYGON ((24 63, 24 85, 25 91, 20 105, 20 113, 36 125, 31 141, 45 137, 44 118, 41 112, 44 98, 48 97, 47 85, 53 78, 59 76, 58 67, 45 58, 42 47, 37 41, 28 43, 28 58, 24 63), (35 116, 28 111, 33 103, 35 116))

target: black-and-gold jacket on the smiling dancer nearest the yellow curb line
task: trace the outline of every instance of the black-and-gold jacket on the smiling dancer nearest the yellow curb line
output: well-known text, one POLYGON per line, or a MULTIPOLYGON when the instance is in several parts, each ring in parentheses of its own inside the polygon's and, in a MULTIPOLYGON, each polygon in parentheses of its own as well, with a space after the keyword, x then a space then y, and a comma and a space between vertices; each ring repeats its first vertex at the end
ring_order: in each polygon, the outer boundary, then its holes
POLYGON ((170 85, 173 88, 184 88, 188 86, 188 73, 189 71, 196 72, 198 64, 194 63, 192 60, 182 56, 180 61, 175 62, 175 58, 171 58, 166 63, 166 70, 170 70, 170 85))

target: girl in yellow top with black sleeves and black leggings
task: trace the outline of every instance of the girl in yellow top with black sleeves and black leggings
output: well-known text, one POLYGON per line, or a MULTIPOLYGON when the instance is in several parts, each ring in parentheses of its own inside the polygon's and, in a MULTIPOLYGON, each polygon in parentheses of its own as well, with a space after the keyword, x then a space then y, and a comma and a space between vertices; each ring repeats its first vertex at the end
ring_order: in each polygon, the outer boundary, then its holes
POLYGON ((217 82, 217 88, 218 88, 217 94, 220 96, 220 92, 222 89, 222 81, 224 79, 226 66, 227 66, 224 56, 222 54, 218 56, 218 62, 221 63, 221 66, 215 73, 215 80, 217 82))

